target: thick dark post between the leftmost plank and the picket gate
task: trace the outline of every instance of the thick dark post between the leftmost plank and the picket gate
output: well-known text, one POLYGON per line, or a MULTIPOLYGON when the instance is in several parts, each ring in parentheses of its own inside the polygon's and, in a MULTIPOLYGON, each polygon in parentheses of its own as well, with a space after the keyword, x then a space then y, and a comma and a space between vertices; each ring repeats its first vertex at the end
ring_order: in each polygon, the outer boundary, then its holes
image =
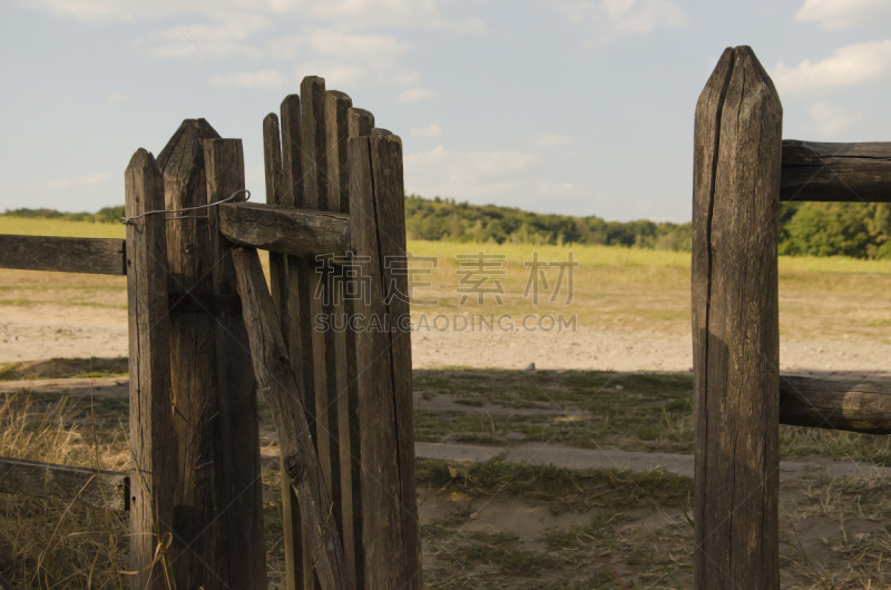
MULTIPOLYGON (((186 120, 160 153, 167 209, 206 205, 243 186, 243 171, 228 169, 241 155, 221 145, 208 195, 205 142, 218 138, 204 119, 186 120)), ((208 209, 168 217, 179 217, 166 224, 174 433, 154 444, 177 460, 167 482, 173 579, 177 588, 265 588, 255 393, 237 343, 244 327, 232 316, 239 306, 227 299, 235 293, 232 263, 225 243, 212 239, 208 209)))

